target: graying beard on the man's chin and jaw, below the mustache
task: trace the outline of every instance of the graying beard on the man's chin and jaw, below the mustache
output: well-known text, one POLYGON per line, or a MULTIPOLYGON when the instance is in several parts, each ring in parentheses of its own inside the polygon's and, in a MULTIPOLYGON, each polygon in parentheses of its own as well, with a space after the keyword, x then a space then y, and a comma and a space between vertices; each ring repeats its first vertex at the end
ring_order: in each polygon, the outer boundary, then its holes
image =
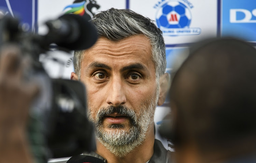
MULTIPOLYGON (((146 132, 148 128, 151 127, 151 114, 153 109, 156 107, 156 103, 154 102, 156 102, 156 100, 151 99, 147 101, 148 106, 144 104, 142 105, 143 109, 141 112, 144 114, 142 114, 141 117, 137 119, 137 121, 134 120, 134 123, 131 125, 129 131, 125 131, 120 128, 119 131, 106 132, 104 131, 103 125, 96 125, 96 136, 98 137, 99 142, 104 145, 110 152, 115 154, 115 156, 119 158, 126 156, 126 154, 130 153, 134 148, 142 144, 142 142, 145 140, 146 132)), ((133 112, 129 114, 134 114, 136 117, 136 114, 133 110, 128 110, 128 112, 133 112)), ((113 127, 113 125, 110 126, 113 127)))

